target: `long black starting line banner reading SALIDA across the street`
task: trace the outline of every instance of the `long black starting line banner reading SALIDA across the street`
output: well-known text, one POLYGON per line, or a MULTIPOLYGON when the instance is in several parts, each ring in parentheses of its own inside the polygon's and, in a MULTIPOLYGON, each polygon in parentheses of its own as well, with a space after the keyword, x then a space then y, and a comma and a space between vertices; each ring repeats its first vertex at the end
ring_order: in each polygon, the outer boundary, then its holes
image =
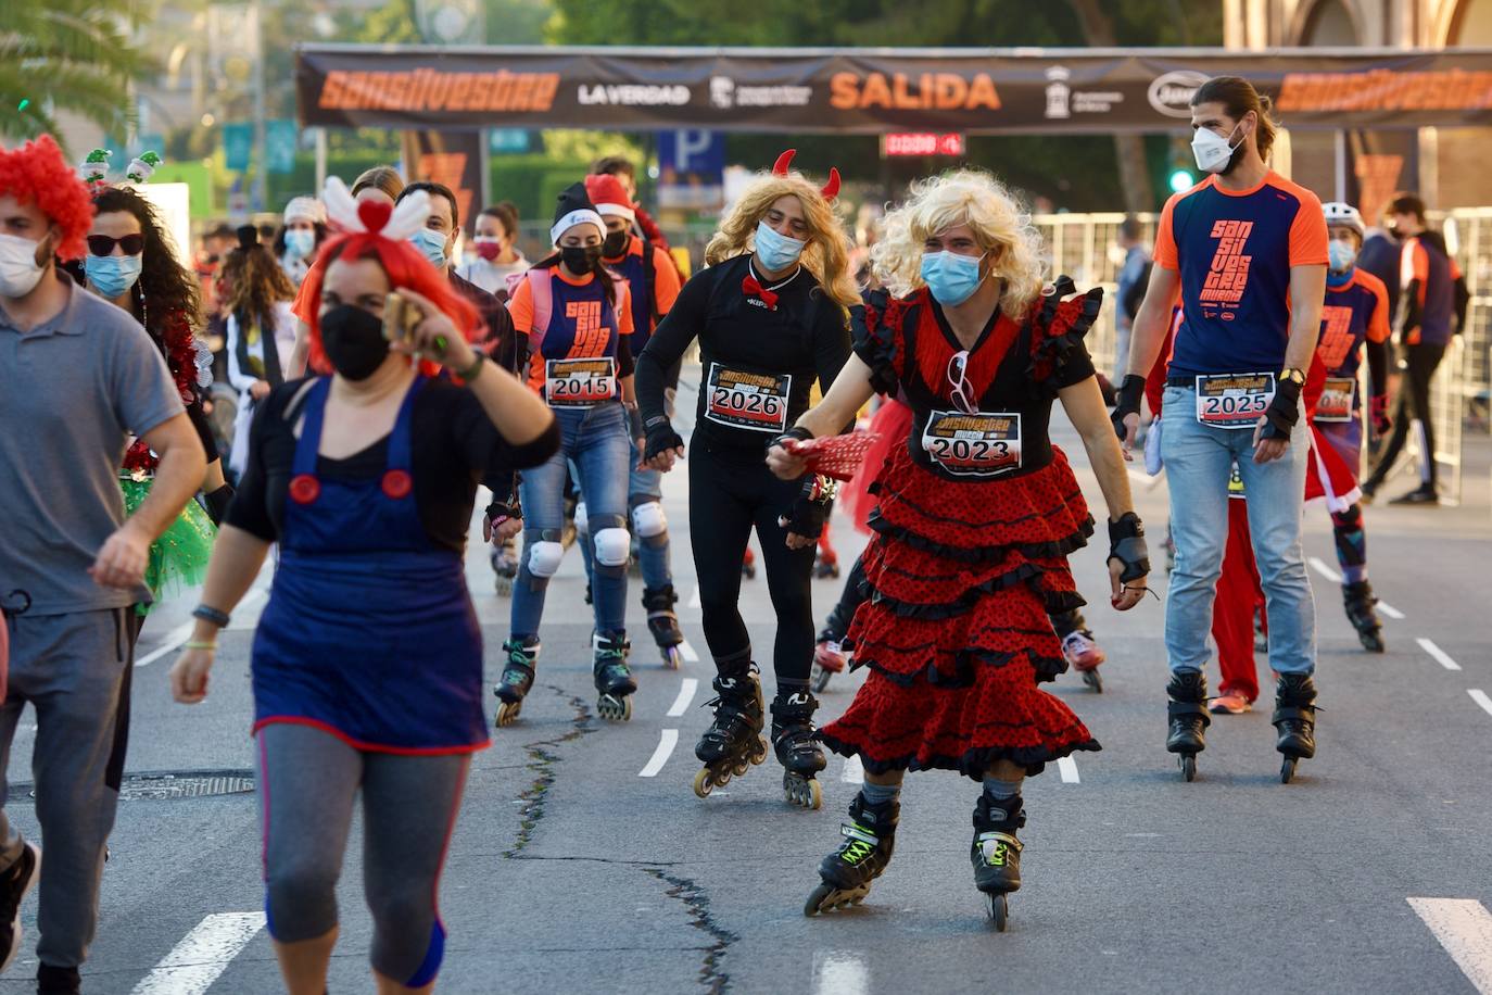
POLYGON ((303 45, 301 122, 716 131, 1170 131, 1209 76, 1291 128, 1492 124, 1492 49, 752 49, 303 45))

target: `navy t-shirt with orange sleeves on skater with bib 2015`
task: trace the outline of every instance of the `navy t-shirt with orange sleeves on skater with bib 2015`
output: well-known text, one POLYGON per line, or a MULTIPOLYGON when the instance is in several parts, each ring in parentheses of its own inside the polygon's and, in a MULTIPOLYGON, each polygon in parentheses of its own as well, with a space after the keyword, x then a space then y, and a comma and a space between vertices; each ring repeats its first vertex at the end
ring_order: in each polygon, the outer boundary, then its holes
MULTIPOLYGON (((528 386, 543 395, 549 360, 630 360, 631 349, 619 357, 622 336, 633 334, 633 312, 627 280, 616 279, 616 303, 594 274, 576 280, 554 267, 549 270, 549 327, 534 330, 534 295, 528 280, 519 280, 507 303, 513 327, 528 337, 528 386)), ((631 373, 630 362, 618 362, 618 376, 631 373)))

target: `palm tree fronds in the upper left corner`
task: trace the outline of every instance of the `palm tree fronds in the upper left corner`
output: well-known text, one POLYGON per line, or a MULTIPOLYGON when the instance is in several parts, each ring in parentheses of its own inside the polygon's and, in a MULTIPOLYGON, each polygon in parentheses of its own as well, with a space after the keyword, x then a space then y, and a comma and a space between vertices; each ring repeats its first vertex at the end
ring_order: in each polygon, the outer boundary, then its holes
POLYGON ((134 122, 130 84, 149 72, 121 7, 97 0, 0 3, 0 136, 57 133, 55 113, 73 112, 104 133, 134 122), (12 103, 13 101, 13 103, 12 103))

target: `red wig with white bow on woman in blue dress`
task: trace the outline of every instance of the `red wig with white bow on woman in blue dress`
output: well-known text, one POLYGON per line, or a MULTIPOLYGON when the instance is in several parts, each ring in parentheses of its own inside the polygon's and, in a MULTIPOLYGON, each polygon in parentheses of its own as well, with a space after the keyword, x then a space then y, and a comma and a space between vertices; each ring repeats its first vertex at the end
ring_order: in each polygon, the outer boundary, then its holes
MULTIPOLYGON (((389 291, 407 286, 427 297, 451 318, 467 342, 477 342, 485 334, 476 307, 457 294, 451 280, 409 242, 409 236, 424 228, 425 219, 430 216, 430 197, 424 191, 406 197, 398 207, 372 201, 358 203, 346 185, 333 176, 327 181, 325 204, 336 234, 321 246, 318 252, 321 266, 312 267, 310 273, 306 274, 306 286, 301 291, 307 295, 306 300, 315 301, 316 306, 307 322, 310 325, 310 349, 307 352, 310 370, 315 373, 333 371, 331 361, 321 345, 321 288, 325 283, 327 270, 339 260, 348 263, 373 260, 388 277, 389 291)), ((419 370, 427 376, 436 376, 440 365, 422 360, 419 370)))

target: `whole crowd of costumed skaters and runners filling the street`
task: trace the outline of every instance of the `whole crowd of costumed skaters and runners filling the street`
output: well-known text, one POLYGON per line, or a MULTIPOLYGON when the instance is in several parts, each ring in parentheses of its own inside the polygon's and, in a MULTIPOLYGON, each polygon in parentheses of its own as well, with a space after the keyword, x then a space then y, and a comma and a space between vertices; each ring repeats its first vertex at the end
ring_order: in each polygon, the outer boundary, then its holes
POLYGON ((694 791, 771 752, 785 798, 818 809, 825 747, 858 758, 864 785, 806 904, 818 914, 885 873, 906 773, 958 771, 979 782, 970 861, 1003 929, 1025 779, 1100 749, 1041 688, 1071 667, 1103 689, 1068 567, 1098 522, 1052 440, 1056 403, 1103 497, 1116 610, 1152 592, 1126 471, 1141 431, 1147 465, 1167 473, 1167 750, 1191 780, 1210 716, 1258 697, 1258 613, 1289 782, 1314 755, 1304 503, 1326 500, 1347 616, 1382 652, 1362 504, 1410 422, 1423 474, 1401 500, 1435 500, 1429 379, 1465 321, 1465 286, 1416 197, 1367 237, 1355 209, 1271 170, 1268 100, 1246 81, 1204 84, 1192 124, 1207 179, 1165 203, 1153 261, 1138 227, 1122 230, 1112 406, 1085 346, 1103 291, 1047 273, 1029 215, 979 170, 913 183, 852 251, 839 173, 809 179, 785 152, 685 279, 625 161, 564 189, 533 263, 510 204, 480 210, 458 263, 455 194, 377 167, 294 198, 276 231, 210 230, 192 273, 136 173, 110 179, 90 157, 85 182, 49 137, 0 151, 0 424, 25 427, 0 433, 0 762, 31 703, 46 849, 43 873, 0 809, 3 964, 39 880, 39 991, 81 991, 149 607, 201 586, 170 671, 175 697, 200 703, 273 547, 252 734, 286 991, 325 988, 360 798, 377 989, 428 991, 446 941, 442 862, 470 758, 491 741, 463 567, 477 495, 491 492, 482 533, 510 592, 495 725, 521 721, 549 582, 576 543, 597 712, 628 721, 634 561, 649 638, 679 665, 662 474, 685 458, 716 692, 694 791), (206 410, 209 321, 237 401, 227 434, 206 410), (674 395, 692 348, 685 440, 674 395), (852 433, 871 404, 871 431, 852 433), (1359 483, 1364 418, 1386 442, 1359 483), (815 549, 837 494, 870 542, 816 634, 815 549), (753 531, 776 613, 770 706, 765 650, 737 606, 753 531), (846 661, 865 679, 818 728, 815 692, 846 661))

